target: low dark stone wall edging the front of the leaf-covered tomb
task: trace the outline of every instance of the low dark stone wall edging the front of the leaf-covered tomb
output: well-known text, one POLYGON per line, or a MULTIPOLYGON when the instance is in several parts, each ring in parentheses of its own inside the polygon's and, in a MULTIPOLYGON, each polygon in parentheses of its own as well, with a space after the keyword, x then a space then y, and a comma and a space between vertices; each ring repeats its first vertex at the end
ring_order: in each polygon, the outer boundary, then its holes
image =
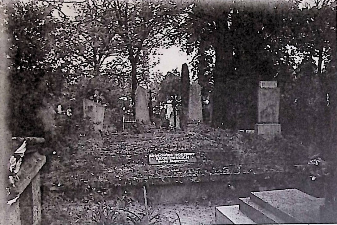
MULTIPOLYGON (((196 203, 203 201, 219 202, 227 199, 237 199, 242 196, 249 196, 252 191, 263 191, 272 189, 297 188, 308 194, 319 197, 317 191, 320 186, 310 186, 313 184, 310 179, 303 182, 300 174, 295 173, 268 173, 260 175, 215 175, 208 181, 191 182, 188 178, 182 178, 175 182, 168 179, 164 181, 148 180, 146 183, 147 196, 151 205, 163 203, 196 203), (316 194, 313 194, 316 193, 316 194)), ((158 179, 157 179, 158 180, 158 179)), ((144 202, 142 185, 131 185, 113 188, 112 196, 125 193, 125 191, 139 202, 144 202)))

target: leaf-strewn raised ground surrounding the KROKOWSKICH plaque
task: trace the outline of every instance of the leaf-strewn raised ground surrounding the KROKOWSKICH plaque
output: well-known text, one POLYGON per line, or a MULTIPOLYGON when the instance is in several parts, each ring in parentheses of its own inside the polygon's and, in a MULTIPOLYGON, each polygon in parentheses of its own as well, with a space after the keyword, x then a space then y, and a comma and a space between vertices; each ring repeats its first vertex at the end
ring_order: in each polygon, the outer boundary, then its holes
POLYGON ((291 171, 304 147, 293 137, 266 141, 253 134, 213 129, 204 125, 186 132, 151 130, 93 139, 78 137, 77 145, 58 150, 45 173, 52 190, 87 189, 150 183, 214 180, 219 175, 291 171), (148 165, 149 153, 195 152, 191 164, 148 165))

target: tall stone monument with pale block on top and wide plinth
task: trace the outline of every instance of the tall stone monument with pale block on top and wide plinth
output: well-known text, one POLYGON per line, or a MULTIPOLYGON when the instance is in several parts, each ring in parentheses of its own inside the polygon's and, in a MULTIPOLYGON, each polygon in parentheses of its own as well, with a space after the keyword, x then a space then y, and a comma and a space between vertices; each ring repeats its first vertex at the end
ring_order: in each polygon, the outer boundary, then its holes
POLYGON ((278 123, 279 105, 280 88, 277 87, 277 81, 260 81, 256 134, 266 137, 281 135, 281 124, 278 123))

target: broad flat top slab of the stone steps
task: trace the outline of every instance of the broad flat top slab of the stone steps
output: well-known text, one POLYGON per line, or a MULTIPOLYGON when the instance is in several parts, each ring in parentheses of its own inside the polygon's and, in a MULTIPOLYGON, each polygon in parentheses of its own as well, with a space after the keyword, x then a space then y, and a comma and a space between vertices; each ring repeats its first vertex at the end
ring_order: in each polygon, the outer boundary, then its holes
POLYGON ((319 207, 324 204, 324 198, 295 188, 251 192, 250 198, 284 223, 319 223, 319 207))

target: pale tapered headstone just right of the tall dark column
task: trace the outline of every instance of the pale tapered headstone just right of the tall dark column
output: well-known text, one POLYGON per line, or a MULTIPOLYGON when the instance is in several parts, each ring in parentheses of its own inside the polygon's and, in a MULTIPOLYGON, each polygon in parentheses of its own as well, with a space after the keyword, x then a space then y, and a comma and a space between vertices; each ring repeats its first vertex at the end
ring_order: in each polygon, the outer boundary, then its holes
POLYGON ((197 83, 190 85, 188 102, 188 123, 203 122, 201 86, 197 83))

